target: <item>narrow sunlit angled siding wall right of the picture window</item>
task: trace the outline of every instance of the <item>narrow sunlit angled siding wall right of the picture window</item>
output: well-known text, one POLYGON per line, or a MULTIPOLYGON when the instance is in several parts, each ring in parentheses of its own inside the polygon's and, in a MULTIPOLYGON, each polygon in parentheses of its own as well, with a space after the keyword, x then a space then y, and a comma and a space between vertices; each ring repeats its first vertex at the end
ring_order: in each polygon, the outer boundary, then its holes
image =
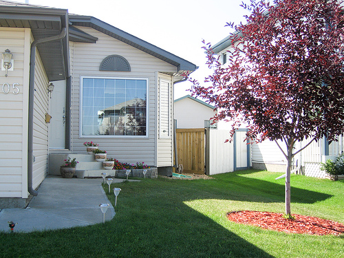
POLYGON ((173 103, 173 96, 172 96, 172 81, 171 77, 166 76, 164 74, 159 74, 159 91, 158 91, 158 99, 159 99, 159 105, 158 105, 158 114, 159 114, 159 120, 158 120, 158 130, 168 130, 169 133, 163 133, 160 132, 158 137, 158 166, 172 166, 173 162, 173 145, 172 145, 172 121, 173 121, 173 114, 172 114, 172 103, 173 103), (169 92, 166 92, 166 89, 164 89, 164 82, 169 82, 169 92), (166 98, 169 98, 167 100, 166 98), (166 114, 166 110, 161 111, 160 105, 162 105, 162 109, 166 109, 166 105, 169 105, 167 107, 168 113, 166 114), (167 119, 168 117, 168 119, 167 119), (160 128, 162 127, 162 128, 160 128))

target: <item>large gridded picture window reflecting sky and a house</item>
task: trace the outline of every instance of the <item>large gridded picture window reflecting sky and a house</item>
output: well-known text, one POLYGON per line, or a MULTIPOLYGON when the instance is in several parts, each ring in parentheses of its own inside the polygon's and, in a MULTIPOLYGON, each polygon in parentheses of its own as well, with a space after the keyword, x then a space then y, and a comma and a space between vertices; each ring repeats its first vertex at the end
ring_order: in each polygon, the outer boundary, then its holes
POLYGON ((147 136, 147 79, 81 80, 81 136, 147 136))

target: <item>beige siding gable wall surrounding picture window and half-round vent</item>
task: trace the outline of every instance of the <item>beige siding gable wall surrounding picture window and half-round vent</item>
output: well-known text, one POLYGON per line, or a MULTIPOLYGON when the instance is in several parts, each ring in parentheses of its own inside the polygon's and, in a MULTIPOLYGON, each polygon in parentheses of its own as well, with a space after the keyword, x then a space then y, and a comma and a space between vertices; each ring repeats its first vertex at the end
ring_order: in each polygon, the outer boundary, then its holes
POLYGON ((150 166, 156 166, 155 158, 156 127, 157 120, 157 88, 158 72, 176 72, 176 67, 146 54, 135 47, 131 47, 107 36, 92 28, 78 27, 80 30, 96 36, 96 44, 70 43, 71 67, 72 67, 72 151, 85 153, 83 143, 94 141, 99 144, 100 149, 107 151, 108 156, 116 158, 121 162, 145 162, 150 166), (109 55, 117 54, 127 59, 131 66, 131 72, 105 72, 99 71, 100 63, 109 55), (147 78, 147 138, 115 137, 104 138, 80 137, 80 76, 96 77, 122 77, 122 78, 147 78))

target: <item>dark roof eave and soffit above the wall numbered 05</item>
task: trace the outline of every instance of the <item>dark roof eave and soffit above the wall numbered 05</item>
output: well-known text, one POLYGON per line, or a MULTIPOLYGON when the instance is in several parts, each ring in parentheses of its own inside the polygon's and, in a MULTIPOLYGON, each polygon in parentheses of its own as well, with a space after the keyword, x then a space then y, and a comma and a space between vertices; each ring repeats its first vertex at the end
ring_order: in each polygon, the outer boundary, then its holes
MULTIPOLYGON (((35 40, 60 34, 62 28, 68 28, 67 19, 65 9, 0 1, 0 27, 30 28, 35 40)), ((68 32, 64 39, 41 43, 37 48, 50 81, 69 77, 68 32)))

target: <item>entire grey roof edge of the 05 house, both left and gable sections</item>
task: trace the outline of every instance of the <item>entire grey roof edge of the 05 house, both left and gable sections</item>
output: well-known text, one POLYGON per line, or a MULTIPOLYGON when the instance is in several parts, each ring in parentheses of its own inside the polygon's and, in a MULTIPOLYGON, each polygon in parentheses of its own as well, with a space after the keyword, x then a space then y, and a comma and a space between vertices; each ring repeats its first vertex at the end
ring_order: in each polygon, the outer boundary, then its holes
POLYGON ((66 9, 0 0, 0 27, 30 28, 35 40, 58 35, 62 28, 67 28, 67 35, 64 39, 37 45, 47 76, 51 81, 69 77, 68 41, 96 43, 98 40, 96 37, 75 28, 74 25, 94 28, 147 54, 160 58, 162 61, 175 65, 177 71, 173 74, 168 73, 169 75, 181 76, 184 72, 193 72, 197 69, 193 63, 94 17, 68 14, 66 9))

